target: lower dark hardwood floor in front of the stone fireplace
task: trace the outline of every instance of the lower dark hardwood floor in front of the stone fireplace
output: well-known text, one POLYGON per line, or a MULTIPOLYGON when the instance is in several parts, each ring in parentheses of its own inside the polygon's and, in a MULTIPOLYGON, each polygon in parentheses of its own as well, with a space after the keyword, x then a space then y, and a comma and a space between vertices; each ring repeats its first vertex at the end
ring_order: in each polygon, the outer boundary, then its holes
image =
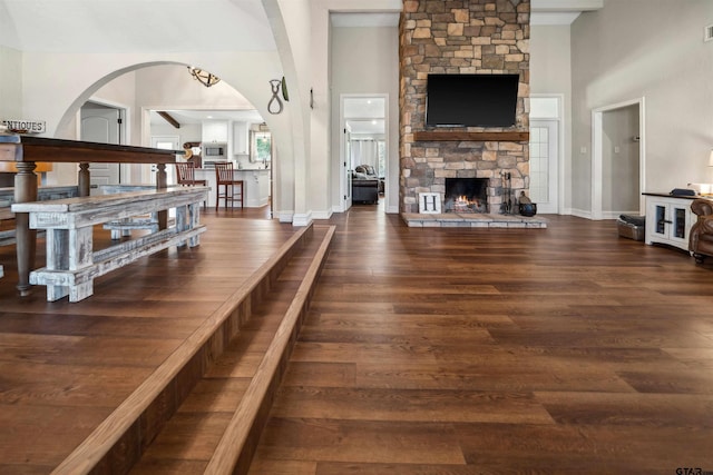
POLYGON ((713 471, 713 266, 619 238, 355 206, 252 475, 713 471))

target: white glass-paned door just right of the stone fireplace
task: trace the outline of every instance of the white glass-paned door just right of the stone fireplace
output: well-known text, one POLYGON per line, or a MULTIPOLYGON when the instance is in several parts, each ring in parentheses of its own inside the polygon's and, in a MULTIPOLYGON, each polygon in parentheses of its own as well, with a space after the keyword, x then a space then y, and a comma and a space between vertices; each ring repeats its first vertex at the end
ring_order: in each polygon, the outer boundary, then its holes
POLYGON ((557 126, 557 120, 530 121, 530 199, 538 214, 559 211, 557 126))

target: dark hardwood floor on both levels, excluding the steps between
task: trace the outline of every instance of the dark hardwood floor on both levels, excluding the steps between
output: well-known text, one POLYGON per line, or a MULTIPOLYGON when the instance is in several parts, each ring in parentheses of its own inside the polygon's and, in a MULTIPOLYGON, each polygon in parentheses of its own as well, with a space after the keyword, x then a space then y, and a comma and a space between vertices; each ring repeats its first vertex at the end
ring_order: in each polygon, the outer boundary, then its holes
MULTIPOLYGON (((613 221, 408 228, 381 206, 318 221, 336 235, 251 474, 713 471, 713 259, 613 221)), ((61 462, 294 232, 226 219, 265 217, 208 210, 198 248, 78 304, 18 298, 0 248, 0 473, 61 462)))

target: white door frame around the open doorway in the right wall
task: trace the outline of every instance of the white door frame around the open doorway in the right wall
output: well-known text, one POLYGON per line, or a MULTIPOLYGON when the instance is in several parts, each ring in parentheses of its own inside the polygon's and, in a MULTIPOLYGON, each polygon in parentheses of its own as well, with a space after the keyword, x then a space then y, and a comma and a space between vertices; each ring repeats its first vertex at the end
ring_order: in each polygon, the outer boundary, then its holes
POLYGON ((638 107, 638 212, 645 212, 646 201, 644 190, 646 189, 646 101, 644 97, 599 107, 592 110, 592 219, 613 219, 616 216, 604 216, 602 210, 602 180, 604 162, 604 115, 606 112, 624 109, 627 107, 638 107))

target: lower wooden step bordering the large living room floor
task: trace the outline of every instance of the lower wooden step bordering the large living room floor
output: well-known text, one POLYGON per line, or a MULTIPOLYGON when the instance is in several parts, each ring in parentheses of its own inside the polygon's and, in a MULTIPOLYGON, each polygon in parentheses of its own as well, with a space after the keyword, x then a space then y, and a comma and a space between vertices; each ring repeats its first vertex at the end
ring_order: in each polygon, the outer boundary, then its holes
POLYGON ((315 228, 131 474, 247 473, 333 234, 315 228))

